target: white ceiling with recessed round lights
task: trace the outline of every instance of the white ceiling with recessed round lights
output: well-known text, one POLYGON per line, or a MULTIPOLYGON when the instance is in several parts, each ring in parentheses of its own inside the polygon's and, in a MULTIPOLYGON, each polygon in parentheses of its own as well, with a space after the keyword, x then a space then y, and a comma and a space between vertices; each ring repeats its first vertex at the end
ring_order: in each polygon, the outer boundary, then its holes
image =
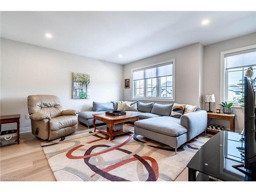
POLYGON ((4 38, 120 64, 252 32, 256 12, 1 12, 4 38))

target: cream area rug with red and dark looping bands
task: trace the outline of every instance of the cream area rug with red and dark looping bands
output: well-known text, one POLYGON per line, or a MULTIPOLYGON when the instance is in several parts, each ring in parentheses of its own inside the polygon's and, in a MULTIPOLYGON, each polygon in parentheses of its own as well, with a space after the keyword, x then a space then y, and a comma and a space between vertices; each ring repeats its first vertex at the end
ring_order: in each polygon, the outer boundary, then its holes
POLYGON ((174 181, 209 137, 174 149, 133 133, 84 132, 41 146, 57 181, 174 181))

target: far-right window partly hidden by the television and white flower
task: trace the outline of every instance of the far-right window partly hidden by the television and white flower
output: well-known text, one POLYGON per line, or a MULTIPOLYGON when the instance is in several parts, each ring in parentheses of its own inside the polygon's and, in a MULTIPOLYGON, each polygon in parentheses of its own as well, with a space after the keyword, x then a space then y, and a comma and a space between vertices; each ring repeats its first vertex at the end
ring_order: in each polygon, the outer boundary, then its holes
POLYGON ((245 72, 252 67, 256 74, 256 48, 224 54, 224 99, 238 103, 242 98, 245 72))

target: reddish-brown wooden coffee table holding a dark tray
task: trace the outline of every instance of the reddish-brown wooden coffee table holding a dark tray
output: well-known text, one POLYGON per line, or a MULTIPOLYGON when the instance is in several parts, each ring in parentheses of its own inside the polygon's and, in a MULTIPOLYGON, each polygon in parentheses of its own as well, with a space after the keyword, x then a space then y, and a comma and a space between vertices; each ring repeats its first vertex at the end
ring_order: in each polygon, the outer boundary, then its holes
POLYGON ((108 135, 110 137, 110 140, 113 140, 114 136, 122 135, 128 132, 131 132, 134 130, 134 126, 129 126, 126 124, 123 124, 123 129, 119 131, 113 131, 113 125, 129 122, 129 121, 137 121, 139 120, 139 115, 126 112, 126 115, 120 115, 120 116, 112 116, 112 115, 106 115, 105 113, 98 113, 93 115, 93 126, 94 126, 94 132, 96 130, 108 135), (104 123, 109 124, 109 128, 106 127, 106 125, 96 127, 95 121, 99 120, 104 123))

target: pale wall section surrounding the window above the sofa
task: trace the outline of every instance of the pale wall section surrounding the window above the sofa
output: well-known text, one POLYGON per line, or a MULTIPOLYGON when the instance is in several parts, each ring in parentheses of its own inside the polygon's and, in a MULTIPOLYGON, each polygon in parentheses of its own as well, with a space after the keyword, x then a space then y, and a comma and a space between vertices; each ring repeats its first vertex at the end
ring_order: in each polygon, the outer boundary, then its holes
MULTIPOLYGON (((130 78, 132 80, 131 72, 133 69, 175 59, 175 102, 200 106, 203 81, 199 73, 203 67, 202 54, 203 46, 200 43, 196 43, 148 57, 125 65, 123 68, 123 78, 130 78)), ((131 100, 132 89, 124 89, 123 97, 124 100, 131 100)), ((164 101, 156 102, 162 103, 164 101)))

